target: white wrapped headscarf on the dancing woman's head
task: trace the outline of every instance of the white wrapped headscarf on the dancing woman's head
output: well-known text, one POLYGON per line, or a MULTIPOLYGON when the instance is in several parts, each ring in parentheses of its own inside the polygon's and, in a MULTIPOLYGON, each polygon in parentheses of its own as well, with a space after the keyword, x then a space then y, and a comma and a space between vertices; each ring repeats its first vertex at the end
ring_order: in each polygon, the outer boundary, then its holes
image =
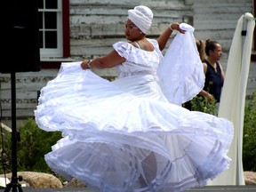
POLYGON ((135 6, 134 9, 128 10, 128 19, 146 34, 152 24, 153 12, 147 6, 135 6))

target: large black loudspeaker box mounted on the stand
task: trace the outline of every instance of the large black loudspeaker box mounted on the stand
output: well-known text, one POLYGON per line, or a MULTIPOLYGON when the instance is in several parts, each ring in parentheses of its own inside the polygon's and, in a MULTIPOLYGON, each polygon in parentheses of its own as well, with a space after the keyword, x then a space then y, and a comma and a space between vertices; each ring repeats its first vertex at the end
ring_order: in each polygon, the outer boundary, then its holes
POLYGON ((9 13, 1 19, 4 39, 1 43, 0 73, 39 71, 37 0, 7 0, 1 6, 9 13))

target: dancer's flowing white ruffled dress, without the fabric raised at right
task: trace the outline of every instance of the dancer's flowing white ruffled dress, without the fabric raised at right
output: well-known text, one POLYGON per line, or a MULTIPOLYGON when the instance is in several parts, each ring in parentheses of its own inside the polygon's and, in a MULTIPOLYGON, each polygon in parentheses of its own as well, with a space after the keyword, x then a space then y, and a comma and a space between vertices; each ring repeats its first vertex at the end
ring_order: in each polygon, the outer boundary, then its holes
POLYGON ((126 59, 113 82, 67 62, 42 89, 36 123, 63 132, 45 155, 52 171, 101 192, 175 192, 204 186, 228 169, 233 125, 170 103, 157 75, 163 55, 156 40, 148 40, 155 51, 113 45, 126 59))

